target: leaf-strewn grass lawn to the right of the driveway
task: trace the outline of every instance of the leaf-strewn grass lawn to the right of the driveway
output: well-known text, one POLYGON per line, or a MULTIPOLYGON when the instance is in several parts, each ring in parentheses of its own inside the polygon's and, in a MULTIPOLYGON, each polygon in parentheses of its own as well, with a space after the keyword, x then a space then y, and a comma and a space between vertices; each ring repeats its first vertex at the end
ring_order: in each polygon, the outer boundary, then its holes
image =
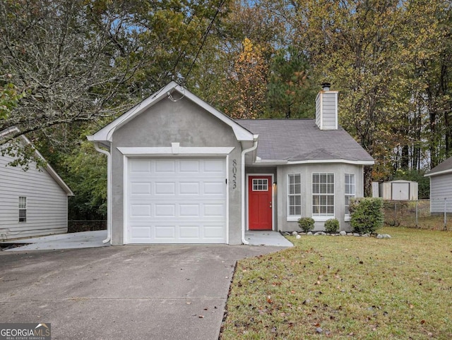
POLYGON ((239 261, 221 339, 452 339, 452 233, 379 232, 239 261))

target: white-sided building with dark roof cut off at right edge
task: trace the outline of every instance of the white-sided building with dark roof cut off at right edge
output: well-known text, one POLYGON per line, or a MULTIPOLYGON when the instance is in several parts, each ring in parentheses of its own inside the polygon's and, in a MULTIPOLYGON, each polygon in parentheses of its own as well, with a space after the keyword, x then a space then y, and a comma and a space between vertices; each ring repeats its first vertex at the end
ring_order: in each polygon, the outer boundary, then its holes
POLYGON ((452 212, 452 157, 425 176, 430 178, 430 212, 452 212))

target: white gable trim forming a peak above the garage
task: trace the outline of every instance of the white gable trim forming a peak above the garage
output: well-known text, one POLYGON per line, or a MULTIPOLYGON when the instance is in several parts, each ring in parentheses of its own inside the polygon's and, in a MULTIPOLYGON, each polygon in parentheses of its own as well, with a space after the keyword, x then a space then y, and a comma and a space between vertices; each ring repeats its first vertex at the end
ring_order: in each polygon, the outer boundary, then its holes
MULTIPOLYGON (((135 107, 127 111, 125 114, 119 116, 117 119, 109 123, 104 128, 101 128, 93 135, 88 136, 88 140, 93 142, 112 142, 112 135, 114 130, 124 126, 126 123, 131 121, 131 119, 135 118, 139 114, 142 114, 145 110, 153 107, 157 102, 160 102, 162 99, 174 100, 174 97, 186 97, 190 99, 192 102, 197 104, 199 107, 205 109, 213 116, 220 119, 220 121, 226 123, 228 126, 232 128, 234 131, 234 135, 239 141, 252 141, 254 140, 253 134, 246 130, 243 126, 240 126, 234 120, 230 119, 225 114, 222 114, 220 111, 212 107, 210 104, 207 104, 202 99, 191 93, 189 90, 186 90, 185 87, 180 86, 176 82, 172 81, 167 86, 163 87, 159 91, 155 92, 155 94, 151 95, 147 99, 144 99, 143 102, 137 104, 135 107), (177 94, 177 96, 174 96, 177 94)), ((177 100, 177 99, 176 99, 177 100)))

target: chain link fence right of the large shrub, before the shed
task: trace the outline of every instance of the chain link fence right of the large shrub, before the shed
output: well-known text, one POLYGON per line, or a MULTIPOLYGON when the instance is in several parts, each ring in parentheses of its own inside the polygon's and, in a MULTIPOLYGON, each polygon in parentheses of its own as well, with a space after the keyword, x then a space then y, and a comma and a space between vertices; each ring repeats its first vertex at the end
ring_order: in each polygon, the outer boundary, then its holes
POLYGON ((385 200, 383 209, 384 222, 388 226, 452 230, 452 198, 432 201, 385 200))

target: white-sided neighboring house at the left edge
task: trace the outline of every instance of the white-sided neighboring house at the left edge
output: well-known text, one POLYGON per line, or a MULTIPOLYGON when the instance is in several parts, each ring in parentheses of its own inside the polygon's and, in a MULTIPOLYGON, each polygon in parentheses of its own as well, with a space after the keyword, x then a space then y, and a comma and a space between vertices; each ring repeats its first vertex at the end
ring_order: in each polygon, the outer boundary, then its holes
MULTIPOLYGON (((17 130, 3 130, 0 138, 17 130)), ((25 136, 19 138, 31 144, 25 136)), ((69 186, 49 164, 36 169, 33 162, 24 171, 18 166, 7 166, 11 161, 13 158, 0 154, 0 241, 66 233, 68 196, 73 195, 69 186)))

